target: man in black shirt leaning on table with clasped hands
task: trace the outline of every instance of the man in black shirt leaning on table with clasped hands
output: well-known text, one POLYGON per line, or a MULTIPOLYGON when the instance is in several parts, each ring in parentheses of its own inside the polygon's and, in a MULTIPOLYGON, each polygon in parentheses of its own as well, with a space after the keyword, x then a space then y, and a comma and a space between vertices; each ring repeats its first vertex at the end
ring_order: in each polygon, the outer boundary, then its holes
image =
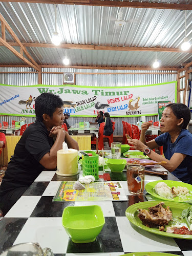
POLYGON ((0 208, 4 215, 43 169, 56 168, 57 151, 62 149, 63 141, 69 148, 79 150, 77 142, 61 128, 62 105, 62 99, 52 93, 42 93, 36 98, 36 122, 18 141, 0 187, 0 208))

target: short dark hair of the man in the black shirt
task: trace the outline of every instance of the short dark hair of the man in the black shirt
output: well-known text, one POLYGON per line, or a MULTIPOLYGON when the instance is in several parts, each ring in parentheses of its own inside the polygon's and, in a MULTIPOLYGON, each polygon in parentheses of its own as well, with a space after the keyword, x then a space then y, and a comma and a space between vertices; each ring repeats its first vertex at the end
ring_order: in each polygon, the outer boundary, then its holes
POLYGON ((42 93, 35 100, 36 122, 43 120, 43 114, 47 114, 52 117, 56 108, 61 108, 62 106, 63 101, 58 95, 42 93))

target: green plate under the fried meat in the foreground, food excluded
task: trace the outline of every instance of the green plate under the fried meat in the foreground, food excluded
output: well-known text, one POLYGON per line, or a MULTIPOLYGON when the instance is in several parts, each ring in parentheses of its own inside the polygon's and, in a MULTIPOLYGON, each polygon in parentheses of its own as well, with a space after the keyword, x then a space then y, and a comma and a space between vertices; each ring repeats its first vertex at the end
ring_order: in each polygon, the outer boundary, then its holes
MULTIPOLYGON (((132 222, 134 225, 136 225, 139 228, 142 228, 148 232, 159 234, 160 236, 169 237, 169 238, 180 238, 180 239, 192 239, 192 234, 174 234, 174 233, 167 233, 163 231, 159 231, 158 228, 153 227, 146 227, 142 224, 142 221, 138 218, 138 213, 140 209, 148 209, 148 207, 155 206, 158 203, 161 203, 162 201, 149 201, 149 202, 140 202, 131 205, 128 207, 125 211, 125 215, 127 219, 132 222)), ((191 206, 190 204, 183 204, 183 203, 177 203, 177 202, 164 202, 164 206, 170 206, 170 210, 172 211, 173 215, 173 221, 169 221, 167 226, 180 226, 186 225, 185 219, 180 219, 181 212, 183 209, 188 208, 191 206)), ((165 226, 166 231, 166 226, 165 226)))

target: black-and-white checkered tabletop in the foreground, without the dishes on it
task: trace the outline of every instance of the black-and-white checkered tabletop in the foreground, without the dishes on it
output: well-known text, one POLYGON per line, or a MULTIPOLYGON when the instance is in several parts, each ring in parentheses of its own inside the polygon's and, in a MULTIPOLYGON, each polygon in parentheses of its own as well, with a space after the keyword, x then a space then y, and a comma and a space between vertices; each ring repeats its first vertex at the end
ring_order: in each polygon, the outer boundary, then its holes
MULTIPOLYGON (((110 151, 105 152, 110 153, 110 151)), ((110 157, 111 155, 106 156, 106 158, 110 157)), ((162 168, 161 166, 161 170, 162 168)), ((69 177, 58 176, 55 170, 44 170, 40 173, 24 195, 0 221, 0 253, 12 245, 38 242, 42 248, 51 248, 55 256, 120 256, 125 253, 134 255, 134 252, 146 251, 192 255, 190 240, 174 239, 148 232, 133 225, 126 218, 127 207, 135 203, 154 200, 146 190, 143 195, 130 194, 127 189, 126 169, 122 173, 112 173, 108 166, 105 166, 103 176, 96 181, 120 182, 125 195, 123 201, 54 202, 53 198, 62 181, 76 181, 82 176, 80 164, 78 164, 78 170, 77 175, 69 177), (94 242, 73 243, 62 226, 62 212, 68 206, 86 205, 99 205, 103 211, 105 224, 94 242)), ((180 181, 169 172, 167 175, 145 174, 145 185, 152 181, 163 180, 180 181)), ((141 253, 139 255, 151 254, 141 253)))

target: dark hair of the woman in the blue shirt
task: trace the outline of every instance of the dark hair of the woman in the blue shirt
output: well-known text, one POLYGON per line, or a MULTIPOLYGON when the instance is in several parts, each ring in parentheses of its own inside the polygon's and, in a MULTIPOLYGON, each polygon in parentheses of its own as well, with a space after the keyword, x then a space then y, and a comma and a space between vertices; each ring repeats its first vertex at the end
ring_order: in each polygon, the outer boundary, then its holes
POLYGON ((186 129, 187 124, 190 121, 190 110, 188 108, 188 106, 186 106, 183 103, 170 103, 168 105, 166 105, 166 108, 171 108, 174 115, 180 119, 183 118, 183 122, 180 125, 181 129, 186 129))

